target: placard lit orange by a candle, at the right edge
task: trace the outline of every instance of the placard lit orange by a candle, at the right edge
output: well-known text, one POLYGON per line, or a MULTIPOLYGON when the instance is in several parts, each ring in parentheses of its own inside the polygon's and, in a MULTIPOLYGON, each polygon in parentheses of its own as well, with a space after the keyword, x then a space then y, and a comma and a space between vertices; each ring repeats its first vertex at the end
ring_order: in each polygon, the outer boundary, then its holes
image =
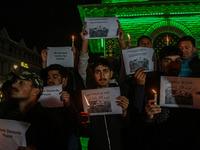
POLYGON ((200 109, 200 78, 162 76, 160 105, 200 109))

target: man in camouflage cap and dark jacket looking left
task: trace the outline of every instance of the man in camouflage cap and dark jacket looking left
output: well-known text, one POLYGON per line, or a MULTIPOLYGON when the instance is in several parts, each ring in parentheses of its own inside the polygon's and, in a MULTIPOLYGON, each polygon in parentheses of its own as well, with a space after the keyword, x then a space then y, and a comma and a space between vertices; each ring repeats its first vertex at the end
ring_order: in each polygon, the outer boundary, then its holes
POLYGON ((8 100, 1 104, 0 118, 29 122, 26 132, 27 147, 19 149, 67 149, 66 135, 55 116, 38 102, 43 90, 43 81, 33 72, 11 73, 15 78, 8 100))

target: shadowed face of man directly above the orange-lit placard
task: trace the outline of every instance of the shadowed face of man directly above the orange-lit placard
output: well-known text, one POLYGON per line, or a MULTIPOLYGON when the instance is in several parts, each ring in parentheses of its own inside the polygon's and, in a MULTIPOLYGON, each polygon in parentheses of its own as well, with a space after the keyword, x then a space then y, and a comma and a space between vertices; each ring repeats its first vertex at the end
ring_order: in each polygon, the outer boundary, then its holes
POLYGON ((179 55, 166 56, 160 62, 160 68, 164 70, 166 76, 178 76, 181 70, 181 58, 179 55))

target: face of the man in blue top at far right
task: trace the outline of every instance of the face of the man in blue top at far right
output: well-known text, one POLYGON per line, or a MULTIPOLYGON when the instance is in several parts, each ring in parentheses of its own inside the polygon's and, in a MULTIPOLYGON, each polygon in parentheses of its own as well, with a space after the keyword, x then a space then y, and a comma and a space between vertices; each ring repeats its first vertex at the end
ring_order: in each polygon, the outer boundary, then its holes
POLYGON ((192 46, 191 41, 181 41, 179 49, 183 52, 182 59, 188 60, 193 57, 196 47, 192 46))

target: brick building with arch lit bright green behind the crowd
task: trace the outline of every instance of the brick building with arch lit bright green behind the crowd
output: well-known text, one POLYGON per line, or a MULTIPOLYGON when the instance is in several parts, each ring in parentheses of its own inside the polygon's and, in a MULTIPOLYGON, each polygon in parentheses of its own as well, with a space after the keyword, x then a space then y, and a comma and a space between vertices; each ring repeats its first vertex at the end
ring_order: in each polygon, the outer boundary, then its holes
MULTIPOLYGON (((166 45, 166 36, 169 44, 175 44, 179 37, 191 35, 200 49, 200 0, 102 0, 102 4, 80 5, 78 9, 82 22, 85 17, 118 17, 125 35, 131 36, 131 46, 137 45, 140 36, 147 35, 159 51, 166 45)), ((90 50, 109 56, 120 53, 116 39, 90 40, 90 50)))

